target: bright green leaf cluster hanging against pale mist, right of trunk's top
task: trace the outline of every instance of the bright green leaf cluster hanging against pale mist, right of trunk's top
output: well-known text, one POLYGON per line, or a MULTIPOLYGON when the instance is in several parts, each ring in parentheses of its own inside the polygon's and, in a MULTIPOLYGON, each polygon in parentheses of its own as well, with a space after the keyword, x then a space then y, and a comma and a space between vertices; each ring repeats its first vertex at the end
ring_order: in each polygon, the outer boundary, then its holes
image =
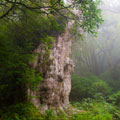
POLYGON ((80 10, 79 19, 81 22, 75 24, 80 25, 85 32, 96 35, 96 29, 103 23, 101 10, 98 8, 101 0, 77 0, 76 3, 76 9, 80 10))

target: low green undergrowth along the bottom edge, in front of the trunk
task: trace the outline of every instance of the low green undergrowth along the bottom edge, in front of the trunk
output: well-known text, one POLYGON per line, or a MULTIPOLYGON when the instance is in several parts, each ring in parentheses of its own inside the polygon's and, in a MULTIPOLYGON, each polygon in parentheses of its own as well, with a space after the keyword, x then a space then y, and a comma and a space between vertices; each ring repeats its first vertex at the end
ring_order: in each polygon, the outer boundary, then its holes
MULTIPOLYGON (((44 114, 31 103, 19 103, 0 110, 1 120, 119 120, 119 111, 105 101, 86 99, 82 103, 74 103, 74 111, 47 110, 44 114)), ((70 109, 71 109, 70 108, 70 109)))

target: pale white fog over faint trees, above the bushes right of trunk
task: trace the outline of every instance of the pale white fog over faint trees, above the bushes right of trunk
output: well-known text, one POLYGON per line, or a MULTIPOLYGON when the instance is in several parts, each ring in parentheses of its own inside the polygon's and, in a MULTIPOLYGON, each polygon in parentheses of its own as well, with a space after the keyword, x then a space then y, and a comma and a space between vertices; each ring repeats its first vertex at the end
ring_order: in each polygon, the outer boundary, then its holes
POLYGON ((104 22, 97 37, 84 34, 84 40, 73 45, 74 74, 120 81, 120 1, 104 0, 100 8, 104 22))

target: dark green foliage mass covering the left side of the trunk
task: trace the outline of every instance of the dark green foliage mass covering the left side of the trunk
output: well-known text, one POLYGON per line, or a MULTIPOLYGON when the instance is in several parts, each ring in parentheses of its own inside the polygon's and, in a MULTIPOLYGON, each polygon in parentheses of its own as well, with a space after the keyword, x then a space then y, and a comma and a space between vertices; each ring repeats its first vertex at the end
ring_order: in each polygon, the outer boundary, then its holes
POLYGON ((23 10, 17 20, 0 21, 0 105, 22 102, 28 87, 36 89, 45 70, 40 73, 30 66, 38 55, 33 51, 42 44, 45 55, 39 67, 47 69, 53 37, 65 29, 65 21, 59 16, 48 18, 23 10))

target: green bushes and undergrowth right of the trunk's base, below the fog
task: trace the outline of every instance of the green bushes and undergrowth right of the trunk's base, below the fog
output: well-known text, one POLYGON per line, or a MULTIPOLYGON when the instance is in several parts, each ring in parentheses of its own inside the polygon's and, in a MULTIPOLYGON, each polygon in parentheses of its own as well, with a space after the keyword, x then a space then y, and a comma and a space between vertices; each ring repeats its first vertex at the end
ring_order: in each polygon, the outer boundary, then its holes
POLYGON ((73 75, 72 83, 71 101, 79 110, 83 110, 75 120, 120 119, 119 91, 114 93, 108 83, 93 75, 73 75))

